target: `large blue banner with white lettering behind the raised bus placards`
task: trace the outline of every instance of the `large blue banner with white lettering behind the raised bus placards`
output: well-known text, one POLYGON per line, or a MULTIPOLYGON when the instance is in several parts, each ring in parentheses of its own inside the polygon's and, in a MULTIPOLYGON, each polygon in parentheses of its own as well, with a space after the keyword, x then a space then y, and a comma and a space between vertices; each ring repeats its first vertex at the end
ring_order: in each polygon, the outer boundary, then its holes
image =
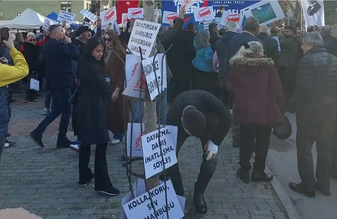
MULTIPOLYGON (((194 5, 191 6, 186 11, 185 14, 185 21, 184 21, 184 28, 186 25, 190 22, 194 22, 195 25, 198 24, 198 22, 194 21, 194 16, 193 16, 193 9, 194 8, 200 8, 200 7, 207 7, 207 6, 213 6, 214 9, 214 14, 216 14, 219 11, 220 6, 224 6, 224 10, 226 11, 231 11, 235 13, 240 13, 243 14, 243 8, 248 7, 252 4, 255 4, 259 1, 230 1, 230 0, 225 0, 225 1, 197 1, 194 5)), ((162 1, 162 12, 163 11, 173 11, 173 12, 180 12, 180 1, 179 0, 163 0, 162 1)), ((244 19, 245 20, 245 19, 244 19)), ((242 23, 244 25, 244 21, 242 23)), ((162 26, 168 26, 169 24, 162 24, 162 26)))

